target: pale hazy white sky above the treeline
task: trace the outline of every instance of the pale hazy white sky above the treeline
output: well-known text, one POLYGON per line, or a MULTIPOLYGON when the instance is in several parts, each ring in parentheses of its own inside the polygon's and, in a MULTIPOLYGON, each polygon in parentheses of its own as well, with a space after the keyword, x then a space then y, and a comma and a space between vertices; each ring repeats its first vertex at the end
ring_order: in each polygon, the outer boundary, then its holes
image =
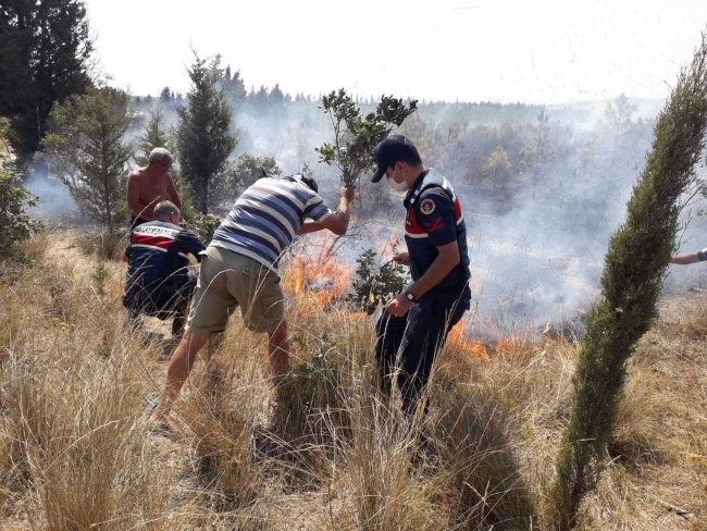
POLYGON ((663 98, 707 0, 86 0, 102 71, 186 92, 190 46, 247 88, 448 101, 663 98))

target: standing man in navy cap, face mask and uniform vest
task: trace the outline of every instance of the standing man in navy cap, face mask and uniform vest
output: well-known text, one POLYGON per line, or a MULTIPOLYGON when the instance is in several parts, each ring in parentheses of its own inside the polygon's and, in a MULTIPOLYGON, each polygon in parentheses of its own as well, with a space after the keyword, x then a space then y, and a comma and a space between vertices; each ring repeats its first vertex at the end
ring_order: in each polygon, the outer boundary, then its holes
POLYGON ((385 305, 376 324, 375 358, 384 392, 394 379, 406 415, 414 412, 435 355, 447 333, 471 307, 467 225, 449 182, 422 164, 409 138, 392 135, 374 149, 377 171, 396 192, 407 193, 407 252, 394 257, 410 266, 412 284, 385 305))

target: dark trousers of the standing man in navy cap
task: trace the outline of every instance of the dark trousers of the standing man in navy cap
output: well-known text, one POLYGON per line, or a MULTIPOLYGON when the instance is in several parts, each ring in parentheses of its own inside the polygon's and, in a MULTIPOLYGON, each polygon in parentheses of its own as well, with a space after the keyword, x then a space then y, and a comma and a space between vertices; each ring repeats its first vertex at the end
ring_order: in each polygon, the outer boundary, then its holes
POLYGON ((375 326, 381 390, 389 394, 397 383, 407 416, 414 412, 447 334, 469 308, 471 292, 464 286, 461 293, 427 292, 401 318, 383 311, 375 326))

